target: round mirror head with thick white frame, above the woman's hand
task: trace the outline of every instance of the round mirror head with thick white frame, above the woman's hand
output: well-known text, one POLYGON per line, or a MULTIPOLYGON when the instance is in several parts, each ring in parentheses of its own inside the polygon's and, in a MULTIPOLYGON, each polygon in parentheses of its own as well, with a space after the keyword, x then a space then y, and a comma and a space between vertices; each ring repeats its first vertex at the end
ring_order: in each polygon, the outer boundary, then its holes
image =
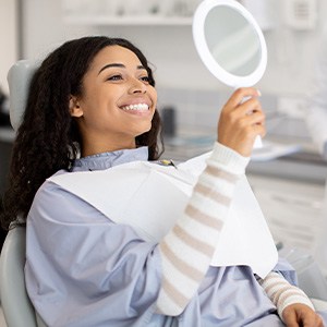
POLYGON ((193 19, 197 52, 222 83, 253 86, 267 64, 266 43, 252 14, 235 0, 204 0, 193 19))

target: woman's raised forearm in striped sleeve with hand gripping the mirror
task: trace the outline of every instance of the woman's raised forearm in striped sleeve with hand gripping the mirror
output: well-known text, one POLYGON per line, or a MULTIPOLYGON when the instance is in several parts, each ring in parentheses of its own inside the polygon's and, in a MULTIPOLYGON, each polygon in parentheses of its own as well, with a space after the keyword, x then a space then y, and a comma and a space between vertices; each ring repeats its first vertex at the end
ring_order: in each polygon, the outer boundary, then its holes
POLYGON ((196 292, 211 261, 235 183, 244 173, 255 137, 265 134, 254 88, 241 88, 220 113, 217 138, 184 215, 159 244, 162 284, 158 312, 179 315, 196 292), (243 102, 244 97, 250 97, 243 102))

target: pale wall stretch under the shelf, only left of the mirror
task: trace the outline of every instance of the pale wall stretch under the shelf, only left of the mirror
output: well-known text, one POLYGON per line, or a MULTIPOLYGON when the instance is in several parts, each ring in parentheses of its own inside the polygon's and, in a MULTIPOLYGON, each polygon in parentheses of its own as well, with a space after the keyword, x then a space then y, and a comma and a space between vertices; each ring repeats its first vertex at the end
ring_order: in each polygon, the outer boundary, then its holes
POLYGON ((65 39, 104 34, 124 37, 137 45, 156 66, 159 85, 175 87, 219 87, 203 68, 192 40, 190 26, 78 26, 63 23, 61 2, 27 0, 24 2, 24 57, 44 57, 65 39), (194 72, 194 73, 193 73, 194 72), (201 82, 199 82, 201 81, 201 82), (204 85, 203 81, 207 81, 204 85))

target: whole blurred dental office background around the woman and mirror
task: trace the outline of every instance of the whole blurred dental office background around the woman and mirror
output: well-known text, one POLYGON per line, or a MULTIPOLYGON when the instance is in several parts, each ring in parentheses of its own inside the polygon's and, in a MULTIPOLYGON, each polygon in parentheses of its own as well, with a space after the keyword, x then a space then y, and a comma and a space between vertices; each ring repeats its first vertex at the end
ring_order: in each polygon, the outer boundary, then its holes
MULTIPOLYGON (((124 37, 155 71, 166 128, 165 158, 182 161, 209 150, 221 105, 232 89, 203 65, 192 38, 199 0, 0 0, 0 193, 14 132, 7 73, 19 59, 43 59, 64 40, 124 37)), ((261 25, 268 65, 256 85, 267 114, 264 147, 247 174, 276 242, 302 249, 327 275, 325 136, 307 123, 314 108, 319 53, 327 39, 325 0, 243 0, 261 25)), ((322 101, 320 107, 326 102, 322 101)), ((319 119, 327 130, 326 120, 319 119)))

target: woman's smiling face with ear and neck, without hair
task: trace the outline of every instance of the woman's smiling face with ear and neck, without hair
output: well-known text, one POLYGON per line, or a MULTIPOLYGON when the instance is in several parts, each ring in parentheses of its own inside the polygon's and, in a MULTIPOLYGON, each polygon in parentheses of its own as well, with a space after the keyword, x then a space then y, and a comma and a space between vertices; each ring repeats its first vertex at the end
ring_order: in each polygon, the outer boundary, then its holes
POLYGON ((156 89, 137 56, 120 47, 98 52, 83 78, 83 95, 70 99, 82 133, 82 155, 135 147, 152 128, 156 89))

